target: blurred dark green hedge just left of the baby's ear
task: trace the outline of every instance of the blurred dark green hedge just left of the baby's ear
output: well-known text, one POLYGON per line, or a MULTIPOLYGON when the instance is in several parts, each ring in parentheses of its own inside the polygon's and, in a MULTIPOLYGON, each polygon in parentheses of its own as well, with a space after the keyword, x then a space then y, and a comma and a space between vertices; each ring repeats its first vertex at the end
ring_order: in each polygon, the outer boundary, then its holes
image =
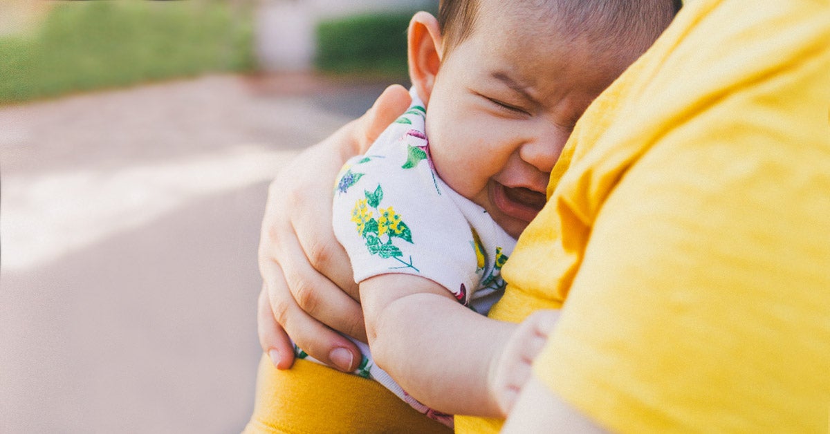
POLYGON ((316 28, 319 71, 407 76, 407 27, 413 12, 354 15, 316 28))

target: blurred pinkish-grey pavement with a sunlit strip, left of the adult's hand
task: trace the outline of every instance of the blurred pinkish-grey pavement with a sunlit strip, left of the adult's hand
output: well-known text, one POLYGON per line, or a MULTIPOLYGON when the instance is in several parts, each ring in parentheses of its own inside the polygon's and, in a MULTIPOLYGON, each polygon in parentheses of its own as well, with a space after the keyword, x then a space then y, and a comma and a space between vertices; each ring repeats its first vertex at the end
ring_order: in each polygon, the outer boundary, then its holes
POLYGON ((267 183, 384 86, 204 76, 0 107, 0 432, 240 432, 267 183))

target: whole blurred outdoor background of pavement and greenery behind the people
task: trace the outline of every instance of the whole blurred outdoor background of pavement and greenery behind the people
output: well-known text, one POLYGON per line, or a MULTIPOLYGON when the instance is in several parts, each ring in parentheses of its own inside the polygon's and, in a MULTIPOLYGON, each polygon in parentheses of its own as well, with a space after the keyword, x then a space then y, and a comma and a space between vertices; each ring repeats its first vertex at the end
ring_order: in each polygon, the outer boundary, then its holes
POLYGON ((240 432, 268 182, 437 0, 0 0, 0 432, 240 432))

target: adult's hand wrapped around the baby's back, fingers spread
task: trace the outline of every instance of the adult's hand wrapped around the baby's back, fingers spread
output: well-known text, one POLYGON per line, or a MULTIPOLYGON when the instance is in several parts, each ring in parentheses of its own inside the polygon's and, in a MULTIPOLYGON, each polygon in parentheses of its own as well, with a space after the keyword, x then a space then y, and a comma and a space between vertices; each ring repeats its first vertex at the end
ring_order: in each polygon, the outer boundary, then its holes
POLYGON ((259 247, 262 292, 258 330, 277 368, 291 368, 291 341, 345 372, 360 361, 357 347, 334 330, 366 340, 349 257, 334 238, 334 178, 407 110, 410 96, 389 86, 365 115, 298 155, 271 183, 259 247))

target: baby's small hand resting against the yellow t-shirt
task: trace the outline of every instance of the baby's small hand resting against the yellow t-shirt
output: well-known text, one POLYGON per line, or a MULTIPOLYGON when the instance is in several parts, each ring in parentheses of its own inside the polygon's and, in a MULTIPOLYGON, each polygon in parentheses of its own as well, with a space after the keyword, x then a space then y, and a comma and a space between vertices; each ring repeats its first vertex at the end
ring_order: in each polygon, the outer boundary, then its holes
POLYGON ((502 350, 491 375, 490 393, 506 417, 530 379, 530 366, 544 348, 559 319, 559 310, 540 310, 519 324, 502 350))

